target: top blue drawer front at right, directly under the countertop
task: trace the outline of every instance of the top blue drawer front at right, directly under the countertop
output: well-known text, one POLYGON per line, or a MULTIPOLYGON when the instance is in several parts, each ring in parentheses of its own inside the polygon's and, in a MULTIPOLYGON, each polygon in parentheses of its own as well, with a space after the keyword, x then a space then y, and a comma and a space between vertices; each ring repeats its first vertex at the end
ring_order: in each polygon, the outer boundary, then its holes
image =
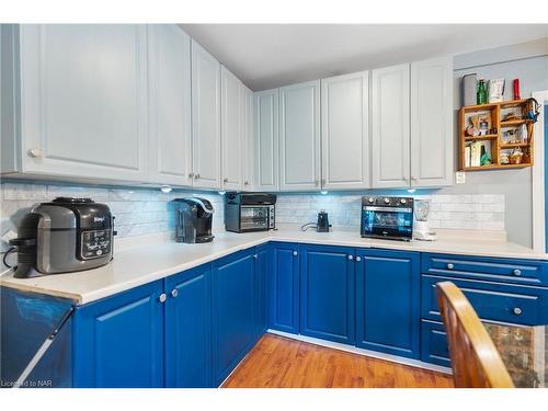
POLYGON ((548 286, 548 262, 449 254, 422 254, 423 274, 548 286))

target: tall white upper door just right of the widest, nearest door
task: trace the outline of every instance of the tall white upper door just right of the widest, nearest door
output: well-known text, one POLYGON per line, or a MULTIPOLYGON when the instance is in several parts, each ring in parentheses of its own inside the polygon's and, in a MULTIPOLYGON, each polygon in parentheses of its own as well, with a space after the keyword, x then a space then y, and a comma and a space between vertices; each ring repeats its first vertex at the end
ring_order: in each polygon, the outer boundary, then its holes
POLYGON ((148 26, 150 181, 192 186, 191 37, 148 26))

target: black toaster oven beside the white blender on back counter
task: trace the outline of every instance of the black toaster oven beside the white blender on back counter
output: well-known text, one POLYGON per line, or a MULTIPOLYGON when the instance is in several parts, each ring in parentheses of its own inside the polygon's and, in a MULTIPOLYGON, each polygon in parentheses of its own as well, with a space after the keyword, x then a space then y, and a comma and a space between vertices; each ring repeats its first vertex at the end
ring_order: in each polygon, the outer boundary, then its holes
POLYGON ((413 237, 413 198, 362 197, 361 235, 410 241, 413 237))

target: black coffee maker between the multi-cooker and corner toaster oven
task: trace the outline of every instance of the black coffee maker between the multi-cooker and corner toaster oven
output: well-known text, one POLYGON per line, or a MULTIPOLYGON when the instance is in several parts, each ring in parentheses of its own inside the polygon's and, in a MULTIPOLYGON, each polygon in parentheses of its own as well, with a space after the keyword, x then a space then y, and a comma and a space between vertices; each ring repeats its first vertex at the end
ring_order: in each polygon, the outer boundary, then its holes
POLYGON ((213 205, 199 197, 175 198, 175 241, 176 242, 209 242, 212 235, 213 205))

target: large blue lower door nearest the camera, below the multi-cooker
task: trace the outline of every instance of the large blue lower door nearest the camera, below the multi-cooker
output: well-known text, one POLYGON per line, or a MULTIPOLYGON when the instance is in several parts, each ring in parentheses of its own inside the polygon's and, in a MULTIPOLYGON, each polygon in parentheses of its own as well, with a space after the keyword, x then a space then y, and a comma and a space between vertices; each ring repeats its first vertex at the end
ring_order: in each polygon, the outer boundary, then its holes
POLYGON ((77 309, 76 387, 162 387, 163 308, 157 281, 77 309))

